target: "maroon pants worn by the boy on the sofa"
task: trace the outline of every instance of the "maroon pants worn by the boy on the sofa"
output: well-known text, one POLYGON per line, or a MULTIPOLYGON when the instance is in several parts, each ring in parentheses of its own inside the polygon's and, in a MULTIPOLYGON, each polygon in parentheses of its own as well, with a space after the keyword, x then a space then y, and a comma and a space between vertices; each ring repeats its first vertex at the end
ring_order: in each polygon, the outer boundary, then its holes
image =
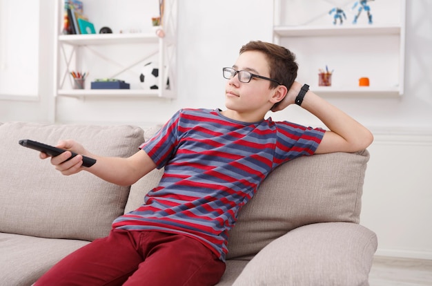
POLYGON ((225 271, 201 242, 179 234, 114 229, 78 249, 35 285, 215 285, 225 271))

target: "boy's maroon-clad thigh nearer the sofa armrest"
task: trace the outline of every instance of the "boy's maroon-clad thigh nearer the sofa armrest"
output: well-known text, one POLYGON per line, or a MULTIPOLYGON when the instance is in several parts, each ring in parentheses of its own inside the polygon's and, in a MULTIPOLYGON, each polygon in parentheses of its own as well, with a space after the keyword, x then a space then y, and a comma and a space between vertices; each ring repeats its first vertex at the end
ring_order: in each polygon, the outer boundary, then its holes
POLYGON ((152 231, 142 236, 146 257, 124 285, 215 285, 224 274, 225 263, 193 238, 152 231))

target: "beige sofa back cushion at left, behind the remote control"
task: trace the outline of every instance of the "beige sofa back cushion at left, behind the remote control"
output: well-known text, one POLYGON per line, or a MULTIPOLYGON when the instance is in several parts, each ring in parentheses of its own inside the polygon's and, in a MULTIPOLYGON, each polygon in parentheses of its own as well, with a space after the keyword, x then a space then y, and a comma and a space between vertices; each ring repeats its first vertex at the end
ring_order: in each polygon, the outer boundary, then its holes
POLYGON ((129 187, 85 171, 61 175, 50 160, 18 142, 55 145, 72 138, 92 153, 128 157, 144 141, 141 128, 8 122, 0 126, 0 137, 0 232, 81 240, 108 234, 112 220, 124 212, 129 187))

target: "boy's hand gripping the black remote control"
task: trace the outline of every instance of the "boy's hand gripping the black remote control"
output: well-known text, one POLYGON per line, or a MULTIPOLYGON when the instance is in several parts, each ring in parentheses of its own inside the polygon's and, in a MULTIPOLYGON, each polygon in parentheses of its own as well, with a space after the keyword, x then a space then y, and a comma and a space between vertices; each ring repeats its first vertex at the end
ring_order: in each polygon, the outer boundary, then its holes
MULTIPOLYGON (((60 141, 56 146, 57 148, 74 151, 77 154, 85 154, 86 149, 84 147, 73 141, 73 140, 63 140, 60 141)), ((78 173, 82 170, 81 165, 83 164, 82 155, 77 155, 74 158, 68 160, 72 155, 70 152, 63 152, 60 155, 51 158, 51 164, 55 166, 55 169, 60 171, 63 175, 72 175, 78 173)), ((41 152, 39 154, 41 159, 46 159, 48 156, 46 153, 41 152)))

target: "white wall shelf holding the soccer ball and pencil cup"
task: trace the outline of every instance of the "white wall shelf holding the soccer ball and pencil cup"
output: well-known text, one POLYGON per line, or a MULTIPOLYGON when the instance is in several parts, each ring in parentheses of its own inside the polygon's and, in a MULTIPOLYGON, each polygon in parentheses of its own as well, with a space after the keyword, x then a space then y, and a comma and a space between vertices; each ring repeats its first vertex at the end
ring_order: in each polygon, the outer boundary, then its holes
MULTIPOLYGON (((55 97, 74 98, 168 98, 177 97, 176 90, 176 46, 177 46, 177 0, 165 0, 163 28, 165 37, 156 35, 156 27, 149 32, 113 32, 109 34, 62 35, 63 2, 56 1, 55 43, 55 97), (146 89, 139 82, 142 66, 157 63, 159 89, 146 89), (72 70, 88 73, 85 89, 72 89, 72 70), (95 79, 120 79, 130 84, 130 89, 90 89, 95 79), (169 82, 169 86, 168 83, 169 82)), ((96 3, 91 3, 89 19, 97 19, 96 3), (92 11, 92 12, 91 12, 92 11), (95 14, 96 13, 96 14, 95 14)), ((90 4, 89 4, 90 5, 90 4)), ((141 9, 147 4, 139 3, 141 9)), ((150 5, 150 4, 148 4, 150 5)), ((84 12, 86 12, 84 6, 84 12)), ((159 7, 159 6, 158 6, 159 7)), ((108 8, 107 8, 108 9, 108 8)), ((128 9, 133 9, 128 8, 128 9)), ((108 9, 109 10, 109 9, 108 9)), ((159 13, 159 10, 156 12, 159 13)), ((129 14, 128 14, 129 15, 129 14)), ((130 14, 137 16, 137 13, 130 14)), ((141 15, 141 14, 140 14, 141 15)), ((109 16, 104 18, 108 19, 109 16)), ((139 16, 141 17, 141 16, 139 16)), ((121 21, 127 25, 128 19, 121 21)), ((136 23, 136 19, 130 19, 136 23)), ((139 19, 143 21, 143 19, 139 19)), ((145 21, 145 20, 144 20, 145 21)), ((150 21, 150 19, 149 19, 150 21)))

